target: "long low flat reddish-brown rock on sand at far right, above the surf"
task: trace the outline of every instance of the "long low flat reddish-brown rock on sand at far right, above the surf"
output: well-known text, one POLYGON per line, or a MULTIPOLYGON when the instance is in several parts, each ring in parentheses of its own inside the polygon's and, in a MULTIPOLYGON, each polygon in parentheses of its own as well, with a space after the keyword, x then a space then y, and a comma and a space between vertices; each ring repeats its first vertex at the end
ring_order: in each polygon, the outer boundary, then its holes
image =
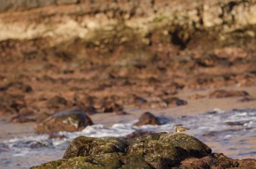
POLYGON ((215 90, 214 92, 209 94, 209 98, 228 98, 241 96, 249 96, 249 93, 238 90, 215 90))

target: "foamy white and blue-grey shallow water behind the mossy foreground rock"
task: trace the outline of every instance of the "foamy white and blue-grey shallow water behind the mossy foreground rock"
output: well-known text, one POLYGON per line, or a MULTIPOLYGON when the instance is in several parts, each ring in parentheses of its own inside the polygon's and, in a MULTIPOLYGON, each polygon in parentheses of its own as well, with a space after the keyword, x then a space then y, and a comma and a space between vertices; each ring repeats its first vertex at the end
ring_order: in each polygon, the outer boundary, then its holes
POLYGON ((57 160, 67 145, 79 135, 88 137, 123 137, 139 129, 152 132, 174 132, 173 125, 183 124, 187 131, 209 145, 214 152, 231 158, 256 158, 256 109, 222 111, 219 109, 197 116, 178 119, 160 118, 164 125, 133 127, 133 123, 88 126, 80 132, 67 133, 65 139, 49 139, 48 135, 18 137, 0 143, 0 168, 29 168, 43 162, 57 160))

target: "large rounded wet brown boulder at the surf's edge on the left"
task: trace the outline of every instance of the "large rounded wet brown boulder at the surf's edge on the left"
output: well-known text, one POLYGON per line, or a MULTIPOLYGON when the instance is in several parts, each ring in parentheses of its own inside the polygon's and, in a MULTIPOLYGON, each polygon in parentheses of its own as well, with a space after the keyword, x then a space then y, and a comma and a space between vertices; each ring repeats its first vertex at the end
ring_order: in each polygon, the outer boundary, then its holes
POLYGON ((90 117, 81 110, 71 109, 57 112, 36 125, 38 133, 55 133, 59 131, 81 131, 84 127, 93 125, 90 117))

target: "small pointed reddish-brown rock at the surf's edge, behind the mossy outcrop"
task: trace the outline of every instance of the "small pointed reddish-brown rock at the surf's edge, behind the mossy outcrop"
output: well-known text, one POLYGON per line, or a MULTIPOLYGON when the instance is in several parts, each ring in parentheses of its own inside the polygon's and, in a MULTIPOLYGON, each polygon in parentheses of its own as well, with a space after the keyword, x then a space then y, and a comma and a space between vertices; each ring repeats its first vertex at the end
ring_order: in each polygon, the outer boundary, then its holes
POLYGON ((151 112, 144 112, 139 117, 139 121, 134 124, 135 126, 141 125, 161 125, 160 121, 151 112))

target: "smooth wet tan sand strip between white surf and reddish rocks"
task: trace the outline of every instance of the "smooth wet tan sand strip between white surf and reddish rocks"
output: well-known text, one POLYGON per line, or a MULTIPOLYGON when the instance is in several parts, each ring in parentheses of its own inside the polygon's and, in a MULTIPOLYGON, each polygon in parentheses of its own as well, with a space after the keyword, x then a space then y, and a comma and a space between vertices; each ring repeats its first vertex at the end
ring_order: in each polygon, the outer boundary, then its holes
MULTIPOLYGON (((229 86, 220 88, 225 90, 245 90, 249 92, 250 96, 256 97, 256 87, 235 87, 229 86)), ((201 98, 191 99, 190 96, 193 94, 207 94, 212 89, 207 90, 183 90, 179 94, 175 95, 181 99, 187 100, 188 104, 183 106, 175 106, 173 108, 147 108, 139 109, 133 108, 127 110, 127 115, 116 115, 113 113, 97 113, 90 115, 94 124, 102 124, 110 127, 116 123, 128 123, 139 119, 139 116, 143 112, 150 111, 156 116, 166 116, 170 119, 176 119, 181 116, 195 116, 204 112, 219 108, 220 110, 232 110, 232 109, 243 109, 243 108, 256 108, 256 100, 250 102, 238 102, 241 97, 230 97, 230 98, 201 98), (225 102, 226 104, 223 104, 225 102)), ((0 141, 6 141, 15 137, 26 137, 37 135, 34 133, 34 127, 36 123, 9 123, 7 119, 10 118, 0 116, 0 141)))

